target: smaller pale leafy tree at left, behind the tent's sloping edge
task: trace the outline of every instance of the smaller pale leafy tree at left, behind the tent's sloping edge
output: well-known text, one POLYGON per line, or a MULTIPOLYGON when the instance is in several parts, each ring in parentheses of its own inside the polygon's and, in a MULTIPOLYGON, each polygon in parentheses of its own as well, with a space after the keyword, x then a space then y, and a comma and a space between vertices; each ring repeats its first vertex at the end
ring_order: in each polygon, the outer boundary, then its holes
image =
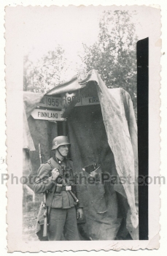
POLYGON ((24 91, 44 93, 62 82, 61 74, 66 59, 61 46, 50 50, 36 64, 24 57, 24 91))

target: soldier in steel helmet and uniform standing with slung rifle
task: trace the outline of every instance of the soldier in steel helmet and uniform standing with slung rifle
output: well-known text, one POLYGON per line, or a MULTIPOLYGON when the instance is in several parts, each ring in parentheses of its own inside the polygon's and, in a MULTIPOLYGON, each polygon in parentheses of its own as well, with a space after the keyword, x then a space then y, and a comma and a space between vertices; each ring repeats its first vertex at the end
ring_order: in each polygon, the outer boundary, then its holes
POLYGON ((72 161, 66 158, 69 146, 69 139, 66 136, 54 138, 52 147, 54 155, 42 165, 34 184, 35 193, 47 191, 46 206, 50 207, 48 232, 50 241, 60 241, 63 236, 66 240, 79 240, 77 219, 83 217, 82 200, 79 185, 74 185, 72 161), (74 189, 79 200, 77 213, 72 196, 74 194, 71 193, 74 189))

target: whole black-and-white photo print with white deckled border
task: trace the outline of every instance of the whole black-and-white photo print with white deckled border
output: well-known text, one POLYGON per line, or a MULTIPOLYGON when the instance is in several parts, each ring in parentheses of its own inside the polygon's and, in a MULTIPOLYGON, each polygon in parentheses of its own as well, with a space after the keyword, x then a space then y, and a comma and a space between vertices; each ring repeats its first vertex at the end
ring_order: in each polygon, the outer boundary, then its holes
POLYGON ((21 223, 12 237, 9 214, 9 252, 68 250, 72 241, 76 250, 157 249, 160 162, 150 157, 160 140, 160 10, 19 6, 6 20, 7 75, 20 51, 20 83, 7 78, 7 145, 19 138, 8 153, 8 204, 15 188, 21 223))

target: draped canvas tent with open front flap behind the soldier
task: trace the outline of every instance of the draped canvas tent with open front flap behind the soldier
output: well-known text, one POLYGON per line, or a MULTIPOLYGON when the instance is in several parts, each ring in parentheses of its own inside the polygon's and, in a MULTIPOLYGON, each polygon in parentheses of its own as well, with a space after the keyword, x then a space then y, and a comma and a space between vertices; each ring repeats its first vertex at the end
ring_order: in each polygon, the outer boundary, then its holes
MULTIPOLYGON (((137 127, 130 95, 124 89, 107 89, 96 70, 82 80, 74 76, 47 95, 65 97, 66 93, 74 95, 63 117, 71 141, 74 173, 82 173, 79 178, 86 219, 82 234, 90 240, 113 240, 120 230, 125 230, 125 221, 131 238, 139 239, 137 127), (83 94, 96 97, 100 104, 75 107, 83 94), (85 184, 82 168, 93 162, 101 165, 102 173, 117 177, 119 182, 85 184)), ((36 150, 28 121, 42 97, 44 94, 23 92, 24 154, 36 150)), ((31 169, 31 161, 26 165, 31 169)))

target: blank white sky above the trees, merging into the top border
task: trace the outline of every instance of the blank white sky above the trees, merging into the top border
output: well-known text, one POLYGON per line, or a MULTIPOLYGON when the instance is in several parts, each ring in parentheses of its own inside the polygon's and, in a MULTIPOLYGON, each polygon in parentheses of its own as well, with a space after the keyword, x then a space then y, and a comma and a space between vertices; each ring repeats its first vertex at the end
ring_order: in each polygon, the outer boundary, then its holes
MULTIPOLYGON (((120 9, 121 7, 119 7, 120 9)), ((82 65, 78 54, 82 53, 82 43, 93 45, 98 39, 99 19, 104 10, 117 10, 118 7, 29 7, 23 10, 23 52, 29 54, 35 63, 57 45, 65 50, 69 69, 66 79, 76 74, 82 65)), ((132 22, 136 26, 139 39, 152 37, 156 23, 156 11, 151 7, 122 7, 123 10, 136 10, 132 22)))

